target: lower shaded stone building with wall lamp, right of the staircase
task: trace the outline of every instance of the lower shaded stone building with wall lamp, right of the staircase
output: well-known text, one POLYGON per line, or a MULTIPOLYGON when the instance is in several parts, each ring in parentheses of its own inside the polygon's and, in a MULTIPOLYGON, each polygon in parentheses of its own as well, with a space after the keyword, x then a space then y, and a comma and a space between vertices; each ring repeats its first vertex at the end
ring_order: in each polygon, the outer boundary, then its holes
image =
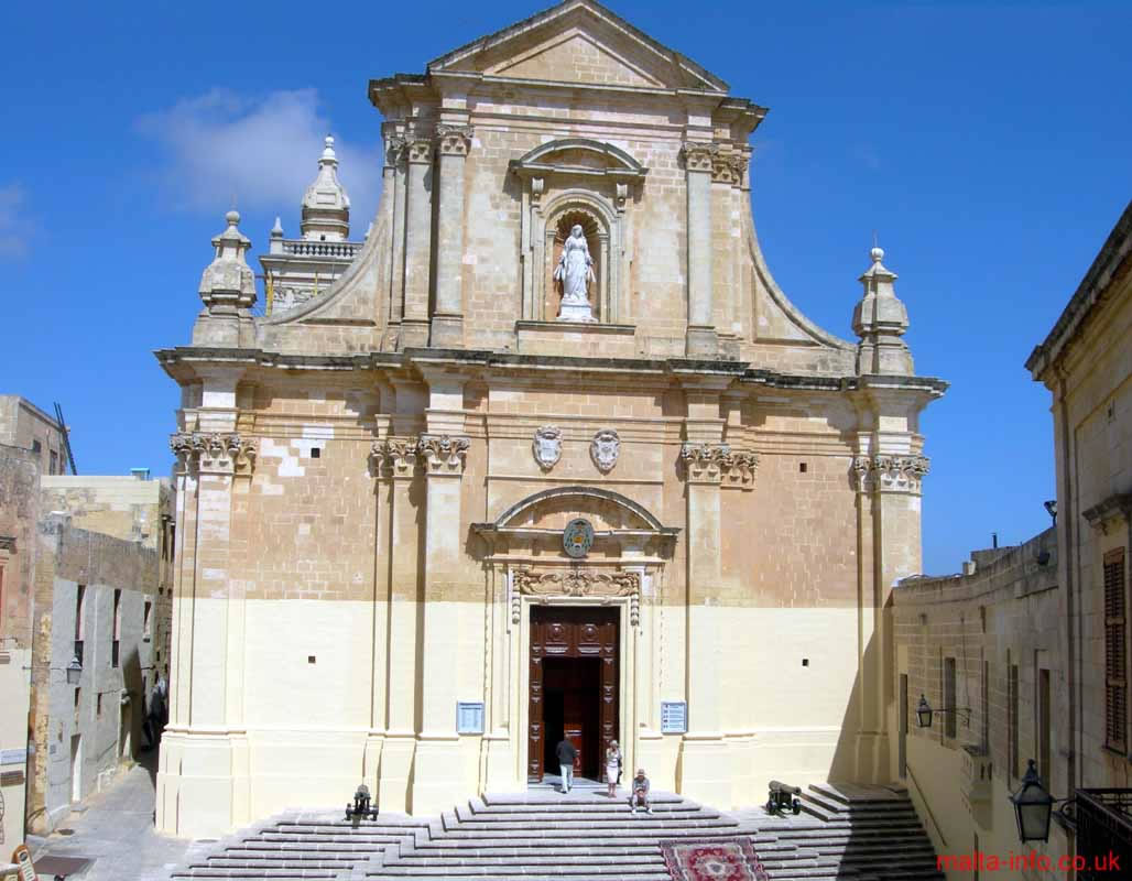
MULTIPOLYGON (((1020 850, 1010 796, 1030 759, 1048 787, 1067 790, 1055 715, 1065 669, 1057 568, 1050 528, 1017 547, 974 551, 962 574, 908 579, 892 592, 895 777, 938 854, 1020 850), (931 727, 918 724, 921 698, 931 727)), ((1053 832, 1038 847, 1071 853, 1064 830, 1053 832)))

